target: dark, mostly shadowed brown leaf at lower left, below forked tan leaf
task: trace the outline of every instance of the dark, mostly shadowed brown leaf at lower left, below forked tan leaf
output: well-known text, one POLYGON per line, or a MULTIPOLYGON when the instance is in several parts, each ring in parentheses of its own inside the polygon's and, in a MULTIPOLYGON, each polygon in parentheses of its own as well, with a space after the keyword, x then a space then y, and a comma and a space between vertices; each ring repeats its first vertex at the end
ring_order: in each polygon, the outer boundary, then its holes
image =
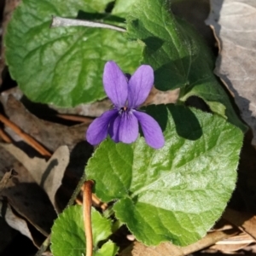
POLYGON ((57 217, 48 196, 19 162, 13 169, 17 175, 9 178, 1 195, 23 218, 26 218, 41 234, 48 236, 53 220, 57 217))

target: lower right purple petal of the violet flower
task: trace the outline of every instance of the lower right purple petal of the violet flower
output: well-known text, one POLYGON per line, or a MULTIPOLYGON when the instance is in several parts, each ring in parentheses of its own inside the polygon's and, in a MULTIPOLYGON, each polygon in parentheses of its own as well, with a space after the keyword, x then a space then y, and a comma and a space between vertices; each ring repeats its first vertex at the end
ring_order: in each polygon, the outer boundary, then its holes
POLYGON ((164 147, 165 137, 157 121, 147 113, 135 111, 133 114, 142 126, 146 143, 155 149, 164 147))

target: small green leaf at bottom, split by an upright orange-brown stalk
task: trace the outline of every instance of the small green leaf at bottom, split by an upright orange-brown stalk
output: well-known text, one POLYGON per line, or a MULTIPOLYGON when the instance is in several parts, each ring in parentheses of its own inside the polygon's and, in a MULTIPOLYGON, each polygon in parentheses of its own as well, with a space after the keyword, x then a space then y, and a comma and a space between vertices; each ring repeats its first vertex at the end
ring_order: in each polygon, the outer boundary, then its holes
MULTIPOLYGON (((82 207, 68 207, 55 220, 51 233, 51 251, 54 256, 77 256, 85 252, 85 235, 82 207)), ((108 241, 102 248, 98 242, 105 240, 112 234, 111 221, 103 218, 94 208, 91 209, 91 223, 94 243, 94 254, 114 256, 118 247, 108 241), (108 248, 108 250, 106 249, 108 248)))

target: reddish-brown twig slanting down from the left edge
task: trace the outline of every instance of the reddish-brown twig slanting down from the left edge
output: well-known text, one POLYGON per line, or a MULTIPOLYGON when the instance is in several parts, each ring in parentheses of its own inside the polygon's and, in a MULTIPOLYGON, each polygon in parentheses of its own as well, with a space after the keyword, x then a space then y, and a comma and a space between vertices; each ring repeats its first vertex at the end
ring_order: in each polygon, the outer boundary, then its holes
POLYGON ((26 141, 26 143, 31 145, 32 148, 35 148, 40 154, 48 157, 51 156, 48 150, 46 150, 35 139, 27 135, 24 131, 22 131, 19 126, 15 125, 13 122, 7 119, 2 113, 0 113, 0 121, 2 121, 4 125, 9 126, 10 129, 15 131, 20 137, 22 137, 26 141))

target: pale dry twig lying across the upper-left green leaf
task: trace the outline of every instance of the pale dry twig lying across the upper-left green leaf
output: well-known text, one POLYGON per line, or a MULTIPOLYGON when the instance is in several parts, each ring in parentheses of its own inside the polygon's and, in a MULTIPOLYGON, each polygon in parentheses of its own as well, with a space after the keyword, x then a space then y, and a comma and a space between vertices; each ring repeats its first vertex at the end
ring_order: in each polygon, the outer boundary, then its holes
POLYGON ((87 27, 89 26, 89 27, 107 28, 107 29, 112 29, 119 32, 126 32, 125 28, 109 25, 106 23, 95 22, 90 20, 73 20, 73 19, 53 16, 51 27, 57 27, 57 26, 87 26, 87 27))

